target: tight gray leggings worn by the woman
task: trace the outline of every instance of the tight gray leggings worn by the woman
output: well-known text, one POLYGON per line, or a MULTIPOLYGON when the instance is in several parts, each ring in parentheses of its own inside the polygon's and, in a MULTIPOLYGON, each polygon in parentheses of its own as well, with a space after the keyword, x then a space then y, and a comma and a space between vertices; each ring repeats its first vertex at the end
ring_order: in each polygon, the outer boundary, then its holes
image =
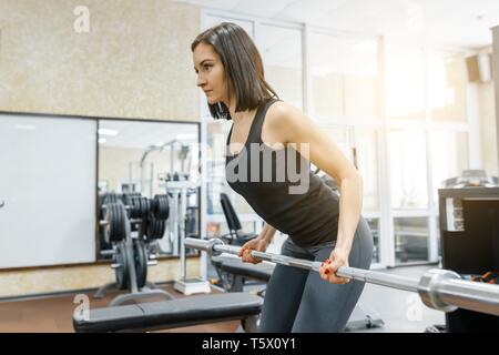
MULTIPOLYGON (((288 237, 282 254, 323 262, 329 257, 335 242, 297 246, 288 237)), ((364 217, 355 232, 349 266, 369 268, 373 258, 373 234, 364 217)), ((261 316, 261 332, 343 332, 364 288, 364 282, 335 285, 317 272, 276 265, 268 282, 261 316)))

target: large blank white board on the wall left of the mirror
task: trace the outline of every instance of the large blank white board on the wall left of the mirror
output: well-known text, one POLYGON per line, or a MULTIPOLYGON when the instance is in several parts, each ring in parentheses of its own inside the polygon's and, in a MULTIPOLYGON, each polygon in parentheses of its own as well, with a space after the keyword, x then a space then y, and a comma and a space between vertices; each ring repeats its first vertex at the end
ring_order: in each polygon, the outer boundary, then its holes
POLYGON ((0 268, 95 261, 96 121, 0 114, 0 268))

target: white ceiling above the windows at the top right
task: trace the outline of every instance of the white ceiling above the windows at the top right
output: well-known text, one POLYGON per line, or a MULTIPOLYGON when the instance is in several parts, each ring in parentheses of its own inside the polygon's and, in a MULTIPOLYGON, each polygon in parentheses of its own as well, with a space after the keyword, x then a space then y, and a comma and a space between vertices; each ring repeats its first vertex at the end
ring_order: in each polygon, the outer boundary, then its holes
POLYGON ((499 24, 499 0, 177 0, 258 18, 394 39, 481 48, 499 24))

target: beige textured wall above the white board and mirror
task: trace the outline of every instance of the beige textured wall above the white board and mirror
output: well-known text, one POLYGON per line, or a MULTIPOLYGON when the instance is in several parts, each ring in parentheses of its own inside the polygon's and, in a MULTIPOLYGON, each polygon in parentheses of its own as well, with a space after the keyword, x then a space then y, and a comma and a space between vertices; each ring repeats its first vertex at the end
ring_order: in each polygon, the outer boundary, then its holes
POLYGON ((200 10, 166 0, 0 1, 0 110, 198 120, 200 10), (90 31, 77 33, 77 6, 90 31))

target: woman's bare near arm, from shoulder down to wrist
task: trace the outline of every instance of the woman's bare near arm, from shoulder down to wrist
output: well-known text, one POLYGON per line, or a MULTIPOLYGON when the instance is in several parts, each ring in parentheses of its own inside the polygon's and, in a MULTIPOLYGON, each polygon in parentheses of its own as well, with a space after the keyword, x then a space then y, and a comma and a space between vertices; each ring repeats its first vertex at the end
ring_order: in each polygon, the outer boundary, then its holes
POLYGON ((334 252, 332 257, 346 258, 342 262, 347 264, 361 212, 360 174, 338 146, 301 110, 284 102, 276 102, 268 110, 267 116, 273 138, 284 144, 296 144, 296 150, 302 155, 337 181, 342 194, 336 253, 334 252), (308 148, 304 144, 308 144, 308 148))

